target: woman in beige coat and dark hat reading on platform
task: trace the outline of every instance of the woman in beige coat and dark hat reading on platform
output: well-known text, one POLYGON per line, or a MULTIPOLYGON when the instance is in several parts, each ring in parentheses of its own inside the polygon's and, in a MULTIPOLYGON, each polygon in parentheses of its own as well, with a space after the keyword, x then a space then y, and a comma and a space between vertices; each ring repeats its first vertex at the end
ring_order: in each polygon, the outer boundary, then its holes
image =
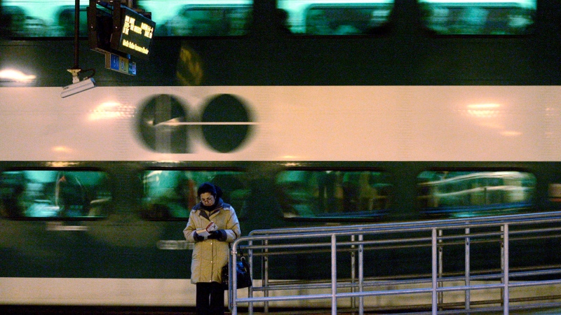
POLYGON ((200 202, 191 209, 183 230, 195 243, 191 283, 196 284, 196 314, 224 314, 222 267, 228 264, 229 243, 241 236, 240 223, 231 205, 222 201, 222 190, 212 183, 198 187, 200 202))

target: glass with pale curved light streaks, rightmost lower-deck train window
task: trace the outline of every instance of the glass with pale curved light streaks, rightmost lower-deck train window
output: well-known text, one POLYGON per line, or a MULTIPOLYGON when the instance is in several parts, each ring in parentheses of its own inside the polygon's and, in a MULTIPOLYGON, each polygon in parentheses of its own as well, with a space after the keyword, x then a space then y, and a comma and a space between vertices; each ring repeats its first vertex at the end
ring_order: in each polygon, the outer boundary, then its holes
POLYGON ((517 214, 532 210, 536 178, 525 172, 427 171, 417 176, 417 191, 428 216, 517 214))

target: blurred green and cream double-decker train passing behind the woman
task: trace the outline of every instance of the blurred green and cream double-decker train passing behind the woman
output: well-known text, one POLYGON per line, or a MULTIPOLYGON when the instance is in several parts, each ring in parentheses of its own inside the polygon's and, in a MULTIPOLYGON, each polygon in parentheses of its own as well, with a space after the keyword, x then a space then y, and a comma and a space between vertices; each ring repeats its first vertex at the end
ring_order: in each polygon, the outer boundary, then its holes
MULTIPOLYGON (((157 22, 137 75, 83 33, 97 86, 65 98, 74 30, 1 25, 0 304, 193 306, 182 230, 205 181, 243 235, 561 209, 558 4, 166 1, 205 12, 169 33, 160 2, 137 1, 157 22)), ((58 23, 52 1, 0 4, 58 23)))

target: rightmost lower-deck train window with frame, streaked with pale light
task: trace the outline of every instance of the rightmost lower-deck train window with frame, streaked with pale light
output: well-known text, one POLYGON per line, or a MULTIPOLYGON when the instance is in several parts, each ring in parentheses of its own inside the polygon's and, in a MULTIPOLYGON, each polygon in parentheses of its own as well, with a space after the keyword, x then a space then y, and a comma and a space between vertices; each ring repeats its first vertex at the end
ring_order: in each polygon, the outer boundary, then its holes
MULTIPOLYGON (((424 218, 473 218, 503 214, 525 214, 535 211, 538 206, 536 204, 537 177, 535 174, 525 169, 426 169, 417 174, 416 179, 417 183, 415 189, 417 193, 415 208, 419 212, 419 215, 424 218), (452 174, 452 176, 447 178, 450 174, 452 174), (454 176, 454 174, 456 176, 454 176), (482 174, 484 177, 477 177, 476 175, 478 174, 482 174), (486 174, 490 176, 485 177, 486 174), (518 174, 521 189, 516 190, 514 188, 509 188, 514 185, 508 185, 504 182, 502 182, 502 185, 496 185, 496 183, 501 183, 501 180, 503 181, 508 178, 509 174, 518 174), (429 176, 431 179, 435 179, 435 176, 438 176, 438 179, 428 180, 429 176), (443 193, 439 192, 440 199, 431 199, 431 195, 433 194, 429 194, 432 189, 428 187, 428 183, 436 181, 442 181, 444 183, 447 181, 445 184, 452 185, 454 179, 458 179, 459 177, 466 179, 466 181, 473 181, 471 187, 466 188, 466 183, 464 183, 462 188, 466 189, 458 191, 450 190, 443 193), (483 182, 478 180, 483 180, 483 182), (533 186, 522 186, 523 180, 532 181, 533 186), (482 183, 485 185, 482 185, 482 183), (492 195, 487 194, 488 187, 492 188, 490 189, 492 195), (501 187, 504 189, 501 190, 501 187), (529 190, 529 192, 525 190, 529 190), (468 193, 467 199, 461 196, 460 193, 462 191, 468 193), (503 193, 501 194, 501 192, 503 193), (508 193, 510 193, 510 195, 508 193), (521 194, 522 200, 520 200, 521 194), (440 202, 439 200, 444 200, 446 197, 445 195, 450 195, 452 199, 445 200, 444 203, 440 202), (508 202, 509 198, 511 202, 508 202), (458 204, 454 204, 454 200, 457 200, 458 204), (496 200, 507 200, 507 202, 495 202, 496 200), (438 206, 430 207, 431 204, 438 206), (441 204, 444 204, 444 206, 440 206, 441 204)), ((509 183, 513 181, 515 181, 515 179, 509 179, 509 183)))

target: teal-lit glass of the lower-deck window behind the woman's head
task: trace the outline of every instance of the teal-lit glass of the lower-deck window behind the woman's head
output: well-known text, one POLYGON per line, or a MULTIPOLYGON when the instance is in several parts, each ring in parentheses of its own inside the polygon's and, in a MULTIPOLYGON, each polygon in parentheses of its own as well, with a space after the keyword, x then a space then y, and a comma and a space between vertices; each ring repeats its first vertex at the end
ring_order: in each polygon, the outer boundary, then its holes
POLYGON ((222 200, 241 211, 249 188, 243 172, 149 170, 143 174, 144 217, 151 220, 189 218, 198 202, 197 188, 213 183, 222 189, 222 200))

